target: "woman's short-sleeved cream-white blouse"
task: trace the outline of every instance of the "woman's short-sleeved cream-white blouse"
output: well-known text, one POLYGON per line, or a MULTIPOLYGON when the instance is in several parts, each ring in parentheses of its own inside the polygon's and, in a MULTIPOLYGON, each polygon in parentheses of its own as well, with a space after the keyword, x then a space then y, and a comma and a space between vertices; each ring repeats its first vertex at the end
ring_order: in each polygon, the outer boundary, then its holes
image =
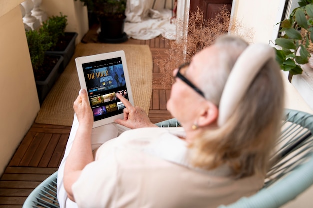
POLYGON ((72 191, 79 208, 216 208, 257 192, 262 176, 239 180, 226 166, 188 165, 182 128, 140 128, 104 143, 72 191))

